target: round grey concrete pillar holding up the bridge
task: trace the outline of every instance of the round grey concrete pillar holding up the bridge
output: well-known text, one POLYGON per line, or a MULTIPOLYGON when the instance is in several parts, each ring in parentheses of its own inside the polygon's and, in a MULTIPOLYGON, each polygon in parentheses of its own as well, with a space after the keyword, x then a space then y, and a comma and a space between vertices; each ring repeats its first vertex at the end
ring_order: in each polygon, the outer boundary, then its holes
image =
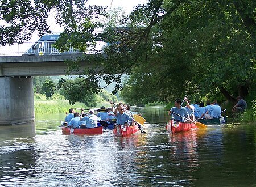
POLYGON ((1 77, 0 108, 0 125, 35 121, 32 78, 1 77))

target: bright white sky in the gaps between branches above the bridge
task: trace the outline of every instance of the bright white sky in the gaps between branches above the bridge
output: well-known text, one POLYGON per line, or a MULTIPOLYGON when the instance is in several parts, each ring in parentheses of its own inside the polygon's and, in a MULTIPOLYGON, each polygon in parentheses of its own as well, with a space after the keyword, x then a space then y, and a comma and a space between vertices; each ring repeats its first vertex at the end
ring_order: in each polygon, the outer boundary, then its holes
MULTIPOLYGON (((90 3, 90 5, 106 6, 108 10, 110 10, 111 8, 122 7, 123 10, 126 12, 126 14, 129 14, 129 12, 131 12, 136 5, 146 4, 147 0, 128 0, 128 1, 127 0, 88 0, 88 3, 90 3)), ((61 31, 63 31, 63 28, 55 24, 54 14, 49 15, 48 24, 53 33, 60 33, 61 31)), ((39 39, 39 36, 36 35, 36 33, 34 33, 30 41, 27 41, 29 43, 22 44, 20 46, 18 45, 1 46, 0 56, 3 56, 3 55, 9 56, 9 55, 18 55, 18 54, 21 55, 28 48, 30 48, 30 46, 32 46, 32 44, 35 41, 38 41, 38 39, 39 39)))

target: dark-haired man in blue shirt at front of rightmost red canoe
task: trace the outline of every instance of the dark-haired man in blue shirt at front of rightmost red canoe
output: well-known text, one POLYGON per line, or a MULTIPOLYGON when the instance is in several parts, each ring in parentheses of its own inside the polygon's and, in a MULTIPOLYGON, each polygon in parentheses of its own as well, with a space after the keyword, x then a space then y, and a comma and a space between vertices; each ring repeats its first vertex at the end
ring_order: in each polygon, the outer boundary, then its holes
POLYGON ((172 107, 170 109, 170 111, 168 112, 168 114, 169 115, 172 114, 172 120, 185 122, 184 117, 189 118, 189 114, 188 114, 188 111, 184 107, 181 107, 181 100, 176 99, 175 102, 174 102, 174 105, 175 105, 175 107, 172 107), (181 117, 172 113, 172 111, 177 113, 177 114, 180 114, 181 117))

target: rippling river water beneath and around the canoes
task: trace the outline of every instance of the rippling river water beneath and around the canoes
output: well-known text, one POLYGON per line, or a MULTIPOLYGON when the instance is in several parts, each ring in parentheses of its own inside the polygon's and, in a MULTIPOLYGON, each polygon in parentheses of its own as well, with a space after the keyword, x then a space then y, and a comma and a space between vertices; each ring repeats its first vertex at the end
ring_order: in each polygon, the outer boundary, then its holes
POLYGON ((1 186, 256 186, 256 128, 168 134, 163 107, 133 108, 150 128, 114 137, 61 133, 64 114, 0 126, 1 186))

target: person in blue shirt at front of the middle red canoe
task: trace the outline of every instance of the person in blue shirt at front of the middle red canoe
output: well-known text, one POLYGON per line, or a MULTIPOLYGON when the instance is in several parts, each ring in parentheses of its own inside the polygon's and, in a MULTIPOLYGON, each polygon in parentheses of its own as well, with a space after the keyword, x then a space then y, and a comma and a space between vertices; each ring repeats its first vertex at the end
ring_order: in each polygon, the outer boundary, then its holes
POLYGON ((130 122, 133 121, 133 118, 125 112, 122 103, 119 103, 118 107, 115 108, 114 114, 117 117, 118 125, 130 125, 130 122))

